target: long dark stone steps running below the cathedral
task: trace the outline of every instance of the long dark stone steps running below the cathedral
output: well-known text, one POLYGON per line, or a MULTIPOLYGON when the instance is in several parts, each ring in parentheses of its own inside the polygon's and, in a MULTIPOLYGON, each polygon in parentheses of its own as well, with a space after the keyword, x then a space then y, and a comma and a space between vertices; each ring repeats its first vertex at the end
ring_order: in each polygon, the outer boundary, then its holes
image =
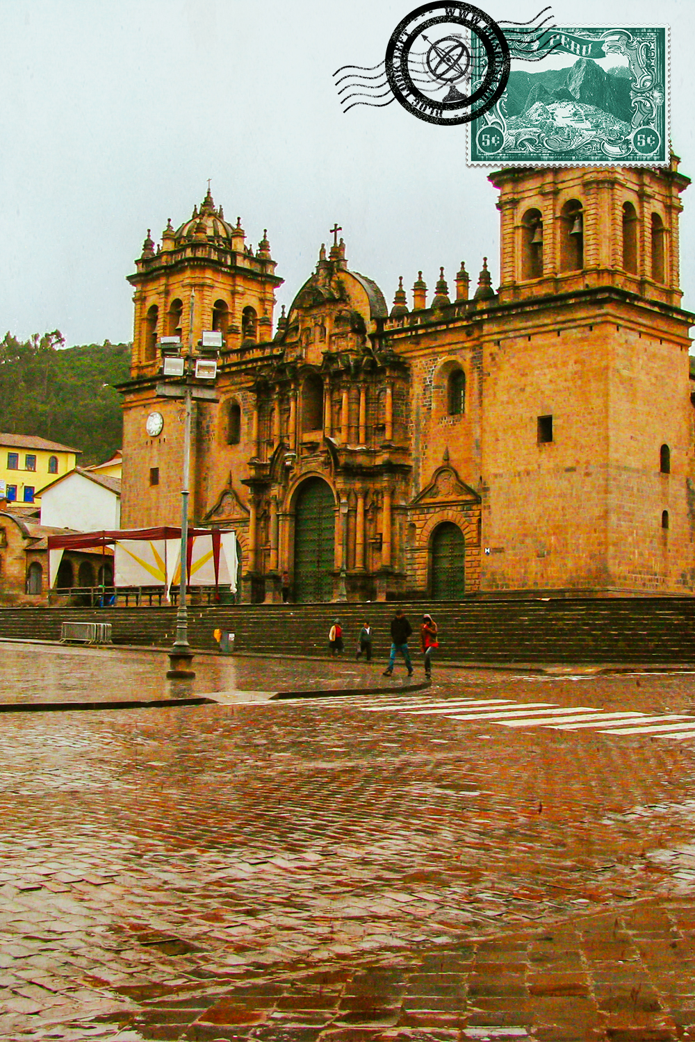
MULTIPOLYGON (((352 655, 363 621, 374 630, 374 655, 390 647, 396 604, 233 604, 189 611, 192 647, 215 650, 215 629, 235 635, 235 648, 259 654, 325 655, 328 629, 343 623, 352 655)), ((423 611, 440 625, 439 660, 480 663, 695 663, 695 598, 619 597, 403 603, 416 630, 423 611)), ((115 644, 168 647, 176 612, 169 607, 22 607, 0 610, 0 638, 60 638, 68 621, 110 622, 115 644)), ((414 638, 411 647, 419 642, 414 638)))

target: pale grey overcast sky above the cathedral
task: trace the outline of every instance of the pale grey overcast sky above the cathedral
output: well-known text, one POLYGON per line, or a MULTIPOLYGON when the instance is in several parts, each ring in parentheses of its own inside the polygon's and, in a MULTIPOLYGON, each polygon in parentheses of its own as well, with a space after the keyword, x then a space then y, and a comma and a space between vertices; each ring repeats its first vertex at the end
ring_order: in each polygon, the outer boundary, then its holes
MULTIPOLYGON (((544 0, 487 0, 525 21, 544 0)), ((247 242, 268 228, 289 305, 337 221, 350 268, 389 304, 419 269, 430 291, 462 259, 499 278, 496 192, 466 167, 464 127, 394 103, 344 115, 331 74, 373 66, 415 0, 0 0, 0 337, 58 328, 68 345, 130 340, 148 227, 158 241, 207 178, 247 242)), ((670 24, 671 128, 695 176, 693 0, 556 0, 559 25, 670 24), (604 20, 610 17, 611 21, 604 20)), ((528 71, 539 66, 526 65, 528 71)), ((695 188, 681 224, 695 307, 695 188)))

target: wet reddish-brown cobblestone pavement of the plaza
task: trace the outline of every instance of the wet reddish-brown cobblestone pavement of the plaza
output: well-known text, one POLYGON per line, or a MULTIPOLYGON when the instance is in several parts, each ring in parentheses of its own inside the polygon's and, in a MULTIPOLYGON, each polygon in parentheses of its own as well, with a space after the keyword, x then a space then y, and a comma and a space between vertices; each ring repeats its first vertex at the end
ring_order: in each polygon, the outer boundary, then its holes
MULTIPOLYGON (((3 645, 0 696, 162 669, 3 645)), ((195 693, 355 670, 201 660, 195 693)), ((695 1039, 694 679, 3 714, 0 1037, 695 1039)))

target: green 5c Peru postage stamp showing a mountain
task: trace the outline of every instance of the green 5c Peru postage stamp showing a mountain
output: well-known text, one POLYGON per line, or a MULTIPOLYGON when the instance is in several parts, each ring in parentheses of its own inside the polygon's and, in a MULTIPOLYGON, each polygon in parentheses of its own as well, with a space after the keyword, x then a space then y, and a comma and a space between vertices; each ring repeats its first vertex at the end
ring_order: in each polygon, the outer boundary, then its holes
POLYGON ((553 27, 538 46, 470 124, 469 166, 668 165, 667 27, 553 27))

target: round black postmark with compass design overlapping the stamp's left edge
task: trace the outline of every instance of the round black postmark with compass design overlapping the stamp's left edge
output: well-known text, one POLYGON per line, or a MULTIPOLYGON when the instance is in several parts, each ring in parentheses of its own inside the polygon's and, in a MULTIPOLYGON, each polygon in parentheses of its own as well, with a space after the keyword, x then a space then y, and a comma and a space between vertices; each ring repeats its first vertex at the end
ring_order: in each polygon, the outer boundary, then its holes
POLYGON ((488 111, 504 91, 510 69, 510 48, 502 30, 479 7, 461 0, 435 0, 417 7, 399 22, 387 47, 387 77, 396 100, 418 119, 442 126, 470 123, 488 111), (469 34, 472 48, 460 29, 469 34), (413 50, 416 43, 422 48, 419 54, 413 50), (471 70, 475 53, 480 68, 471 70), (419 60, 419 55, 426 57, 419 60), (411 63, 417 60, 414 69, 411 63), (469 76, 469 70, 476 79, 467 94, 456 84, 469 76), (423 76, 414 71, 424 74, 427 93, 418 85, 423 76), (432 97, 438 89, 447 88, 444 97, 432 97))

